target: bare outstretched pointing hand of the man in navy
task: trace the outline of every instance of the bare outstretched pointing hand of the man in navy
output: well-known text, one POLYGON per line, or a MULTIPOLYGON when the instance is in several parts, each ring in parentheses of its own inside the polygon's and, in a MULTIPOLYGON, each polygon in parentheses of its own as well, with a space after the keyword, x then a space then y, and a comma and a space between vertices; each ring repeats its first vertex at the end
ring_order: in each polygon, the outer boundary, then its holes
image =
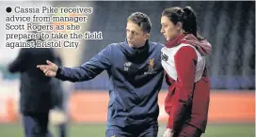
POLYGON ((38 65, 37 68, 40 68, 45 76, 48 77, 56 77, 56 71, 57 71, 57 66, 53 62, 46 60, 46 63, 48 65, 38 65))

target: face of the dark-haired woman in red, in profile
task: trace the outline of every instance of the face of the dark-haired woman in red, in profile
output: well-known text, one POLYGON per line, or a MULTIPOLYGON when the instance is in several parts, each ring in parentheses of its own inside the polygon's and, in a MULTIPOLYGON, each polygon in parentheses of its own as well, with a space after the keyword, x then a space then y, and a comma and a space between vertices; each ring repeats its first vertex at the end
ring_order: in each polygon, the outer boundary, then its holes
POLYGON ((176 38, 182 30, 181 23, 174 24, 172 23, 167 16, 161 17, 161 33, 164 35, 167 40, 176 38))

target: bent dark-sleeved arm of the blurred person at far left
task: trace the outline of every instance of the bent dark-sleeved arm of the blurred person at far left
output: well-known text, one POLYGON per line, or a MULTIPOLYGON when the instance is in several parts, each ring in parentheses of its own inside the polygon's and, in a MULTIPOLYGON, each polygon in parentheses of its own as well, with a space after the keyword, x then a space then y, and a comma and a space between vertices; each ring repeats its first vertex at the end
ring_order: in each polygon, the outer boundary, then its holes
POLYGON ((26 66, 26 58, 27 58, 27 51, 26 49, 21 49, 18 56, 15 58, 15 60, 8 65, 8 71, 11 73, 17 72, 17 71, 24 71, 26 66))

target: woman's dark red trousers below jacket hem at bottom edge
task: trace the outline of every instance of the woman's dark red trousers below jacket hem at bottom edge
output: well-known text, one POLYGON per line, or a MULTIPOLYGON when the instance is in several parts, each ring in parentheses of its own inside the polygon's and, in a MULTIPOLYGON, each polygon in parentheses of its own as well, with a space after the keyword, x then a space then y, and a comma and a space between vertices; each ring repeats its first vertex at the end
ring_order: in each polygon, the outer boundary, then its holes
POLYGON ((174 133, 173 137, 200 137, 201 134, 200 129, 189 124, 184 124, 180 131, 174 133))

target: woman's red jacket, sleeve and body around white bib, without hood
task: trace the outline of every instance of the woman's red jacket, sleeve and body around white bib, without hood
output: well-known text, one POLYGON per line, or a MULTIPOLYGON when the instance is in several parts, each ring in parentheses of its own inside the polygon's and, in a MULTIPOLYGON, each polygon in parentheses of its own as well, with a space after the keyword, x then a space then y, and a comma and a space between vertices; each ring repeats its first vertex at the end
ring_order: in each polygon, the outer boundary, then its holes
MULTIPOLYGON (((170 47, 171 48, 171 47, 170 47)), ((210 82, 206 68, 199 82, 194 83, 197 53, 192 47, 182 47, 174 56, 178 80, 166 78, 168 96, 165 109, 168 113, 168 129, 178 131, 184 123, 205 131, 210 102, 210 82)))

